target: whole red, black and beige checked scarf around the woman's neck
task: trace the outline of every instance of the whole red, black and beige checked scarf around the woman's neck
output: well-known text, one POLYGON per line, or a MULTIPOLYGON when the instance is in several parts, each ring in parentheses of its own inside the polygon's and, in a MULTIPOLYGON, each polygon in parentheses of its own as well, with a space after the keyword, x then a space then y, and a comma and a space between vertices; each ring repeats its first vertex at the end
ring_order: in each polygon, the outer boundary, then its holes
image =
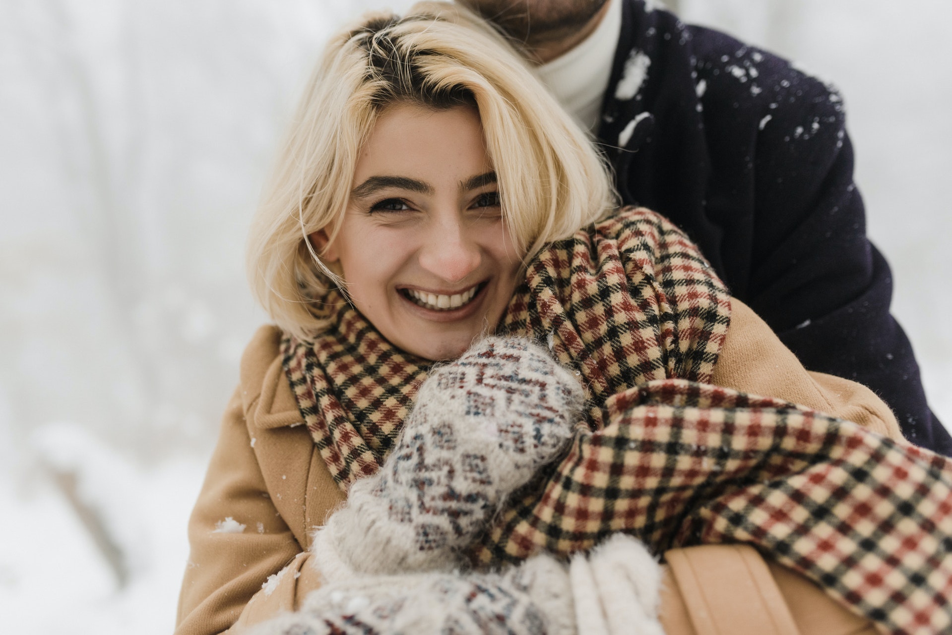
MULTIPOLYGON (((338 294, 284 365, 341 488, 379 469, 428 362, 338 294)), ((707 385, 730 298, 696 246, 644 209, 549 246, 497 334, 580 375, 591 431, 473 546, 474 561, 569 553, 624 530, 662 552, 747 542, 887 632, 952 626, 952 465, 775 399, 707 385)))

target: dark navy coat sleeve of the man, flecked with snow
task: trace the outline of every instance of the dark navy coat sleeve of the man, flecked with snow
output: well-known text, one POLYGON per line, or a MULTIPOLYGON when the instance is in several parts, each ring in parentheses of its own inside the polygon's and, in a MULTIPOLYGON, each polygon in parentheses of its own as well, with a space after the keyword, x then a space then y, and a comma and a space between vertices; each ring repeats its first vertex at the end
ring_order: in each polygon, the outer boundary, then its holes
POLYGON ((745 299, 803 366, 869 387, 907 439, 950 454, 952 437, 929 410, 912 346, 889 312, 889 265, 866 237, 842 100, 796 70, 785 76, 797 89, 777 100, 754 151, 745 299))

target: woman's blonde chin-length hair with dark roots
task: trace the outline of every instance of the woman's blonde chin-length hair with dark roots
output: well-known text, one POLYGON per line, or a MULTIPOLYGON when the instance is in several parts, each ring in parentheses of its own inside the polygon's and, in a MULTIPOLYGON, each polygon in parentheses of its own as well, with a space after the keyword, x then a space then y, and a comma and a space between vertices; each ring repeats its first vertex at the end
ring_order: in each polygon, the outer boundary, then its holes
POLYGON ((311 76, 248 237, 248 278, 278 326, 313 337, 321 298, 343 281, 308 241, 333 241, 358 152, 397 103, 475 106, 497 174, 503 217, 526 260, 616 206, 605 164, 515 49, 475 14, 420 3, 369 14, 333 37, 311 76))

